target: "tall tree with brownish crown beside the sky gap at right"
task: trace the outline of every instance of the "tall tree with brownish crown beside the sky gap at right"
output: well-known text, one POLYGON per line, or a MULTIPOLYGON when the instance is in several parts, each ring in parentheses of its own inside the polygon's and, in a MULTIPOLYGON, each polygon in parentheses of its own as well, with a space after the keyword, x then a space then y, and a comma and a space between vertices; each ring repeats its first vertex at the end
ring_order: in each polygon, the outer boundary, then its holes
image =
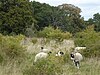
POLYGON ((65 11, 65 13, 63 13, 64 15, 67 15, 66 24, 64 25, 66 31, 75 33, 85 29, 85 22, 84 18, 80 15, 80 8, 72 4, 62 4, 58 7, 65 11))

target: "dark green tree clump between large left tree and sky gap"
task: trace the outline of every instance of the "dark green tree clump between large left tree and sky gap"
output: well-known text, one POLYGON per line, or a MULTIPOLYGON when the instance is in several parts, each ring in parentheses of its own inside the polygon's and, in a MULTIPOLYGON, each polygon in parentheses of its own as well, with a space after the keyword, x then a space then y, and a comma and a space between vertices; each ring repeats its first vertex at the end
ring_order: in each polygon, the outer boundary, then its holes
POLYGON ((34 18, 38 21, 38 30, 47 26, 59 28, 62 31, 76 33, 85 28, 81 18, 81 9, 70 4, 53 7, 45 3, 33 1, 34 18))

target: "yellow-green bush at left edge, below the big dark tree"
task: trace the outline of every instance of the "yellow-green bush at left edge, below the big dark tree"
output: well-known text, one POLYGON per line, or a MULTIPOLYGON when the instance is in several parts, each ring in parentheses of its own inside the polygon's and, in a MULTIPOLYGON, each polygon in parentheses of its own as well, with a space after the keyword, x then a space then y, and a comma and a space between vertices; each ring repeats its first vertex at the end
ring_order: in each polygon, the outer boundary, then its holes
MULTIPOLYGON (((1 35, 0 35, 1 36, 1 35)), ((4 60, 24 57, 25 49, 20 45, 23 36, 1 36, 0 55, 4 60)))

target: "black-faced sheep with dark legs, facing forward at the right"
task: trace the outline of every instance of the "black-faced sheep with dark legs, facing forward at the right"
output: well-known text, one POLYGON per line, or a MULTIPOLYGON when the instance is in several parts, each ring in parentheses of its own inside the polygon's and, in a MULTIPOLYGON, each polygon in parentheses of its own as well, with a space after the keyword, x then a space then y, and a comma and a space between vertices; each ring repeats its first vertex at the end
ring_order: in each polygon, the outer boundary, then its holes
POLYGON ((75 64, 75 66, 79 69, 79 67, 80 67, 80 61, 83 59, 82 54, 79 53, 79 52, 72 52, 70 54, 70 56, 71 56, 71 60, 73 60, 73 62, 75 64))

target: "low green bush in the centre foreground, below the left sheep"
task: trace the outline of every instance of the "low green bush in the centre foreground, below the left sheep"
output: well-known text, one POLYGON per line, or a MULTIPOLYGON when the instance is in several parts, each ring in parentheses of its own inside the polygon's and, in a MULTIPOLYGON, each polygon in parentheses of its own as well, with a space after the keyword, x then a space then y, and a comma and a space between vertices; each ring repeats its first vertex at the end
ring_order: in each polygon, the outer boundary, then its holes
POLYGON ((23 75, 61 75, 63 73, 62 62, 62 58, 50 56, 25 69, 23 75))

